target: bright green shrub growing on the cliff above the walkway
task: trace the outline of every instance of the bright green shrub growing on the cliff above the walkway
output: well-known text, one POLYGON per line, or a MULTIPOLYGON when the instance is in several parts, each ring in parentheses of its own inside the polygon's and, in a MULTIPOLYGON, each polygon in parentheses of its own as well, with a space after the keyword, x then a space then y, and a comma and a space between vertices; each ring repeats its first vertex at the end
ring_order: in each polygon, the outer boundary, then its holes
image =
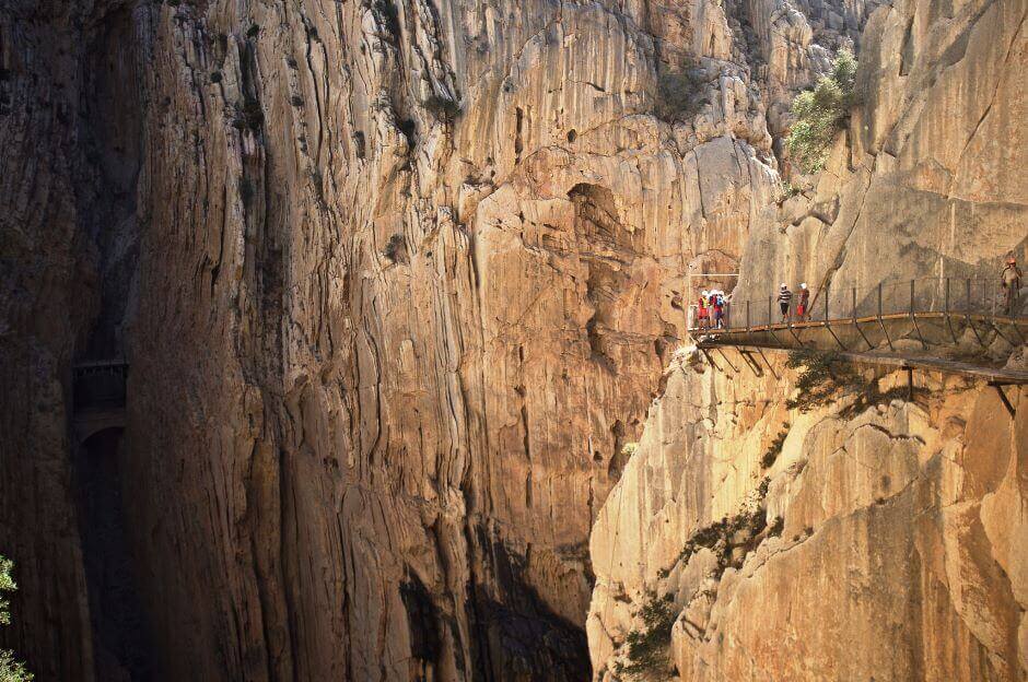
POLYGON ((790 128, 785 145, 790 157, 804 173, 817 173, 825 167, 836 133, 842 129, 853 106, 853 83, 856 59, 853 52, 840 50, 832 62, 831 73, 821 77, 813 90, 793 99, 795 122, 790 128))

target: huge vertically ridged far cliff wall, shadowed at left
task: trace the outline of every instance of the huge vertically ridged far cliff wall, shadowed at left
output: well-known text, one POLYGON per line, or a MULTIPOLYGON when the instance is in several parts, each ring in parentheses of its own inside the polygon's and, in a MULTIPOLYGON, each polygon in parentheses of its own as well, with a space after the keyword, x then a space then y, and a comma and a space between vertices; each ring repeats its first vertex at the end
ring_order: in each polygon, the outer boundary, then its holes
POLYGON ((167 679, 587 677, 585 542, 685 275, 736 267, 790 89, 868 10, 7 3, 3 550, 40 679, 113 674, 66 434, 71 364, 118 355, 105 498, 167 679))

